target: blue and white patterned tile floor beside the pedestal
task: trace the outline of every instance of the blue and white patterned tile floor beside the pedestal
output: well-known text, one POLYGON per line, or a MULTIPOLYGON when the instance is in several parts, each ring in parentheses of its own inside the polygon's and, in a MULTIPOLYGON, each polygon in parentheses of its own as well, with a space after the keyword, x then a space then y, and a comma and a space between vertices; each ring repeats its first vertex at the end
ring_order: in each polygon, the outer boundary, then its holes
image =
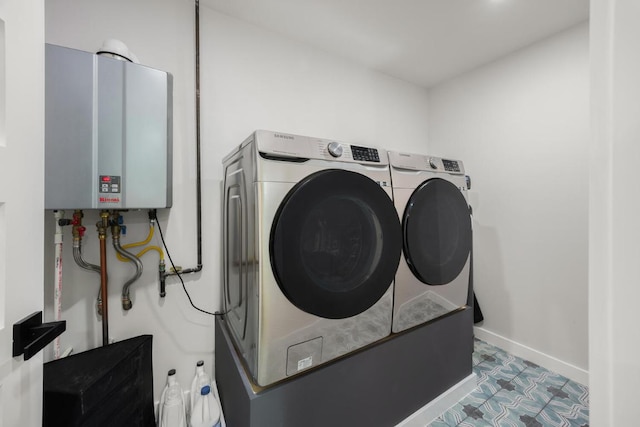
POLYGON ((589 389, 475 339, 478 387, 431 427, 588 427, 589 389))

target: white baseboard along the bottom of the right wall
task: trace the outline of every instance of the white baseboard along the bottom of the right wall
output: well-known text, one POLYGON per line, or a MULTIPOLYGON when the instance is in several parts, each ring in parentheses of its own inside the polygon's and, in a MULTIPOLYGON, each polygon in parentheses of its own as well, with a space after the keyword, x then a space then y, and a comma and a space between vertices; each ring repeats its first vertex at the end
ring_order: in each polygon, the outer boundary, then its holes
POLYGON ((548 354, 542 353, 541 351, 535 350, 531 347, 527 347, 524 344, 512 341, 482 327, 474 326, 473 332, 476 338, 495 345, 496 347, 500 347, 514 356, 533 362, 580 384, 589 384, 589 371, 585 369, 564 362, 553 356, 549 356, 548 354))

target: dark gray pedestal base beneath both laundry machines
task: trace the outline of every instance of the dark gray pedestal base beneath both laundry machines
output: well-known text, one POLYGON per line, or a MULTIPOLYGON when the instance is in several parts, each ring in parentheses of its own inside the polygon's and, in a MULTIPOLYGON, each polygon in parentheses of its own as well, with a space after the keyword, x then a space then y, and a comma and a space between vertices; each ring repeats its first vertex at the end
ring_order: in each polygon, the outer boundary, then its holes
POLYGON ((223 319, 215 332, 216 381, 229 427, 392 427, 472 371, 469 308, 266 389, 247 376, 223 319))

